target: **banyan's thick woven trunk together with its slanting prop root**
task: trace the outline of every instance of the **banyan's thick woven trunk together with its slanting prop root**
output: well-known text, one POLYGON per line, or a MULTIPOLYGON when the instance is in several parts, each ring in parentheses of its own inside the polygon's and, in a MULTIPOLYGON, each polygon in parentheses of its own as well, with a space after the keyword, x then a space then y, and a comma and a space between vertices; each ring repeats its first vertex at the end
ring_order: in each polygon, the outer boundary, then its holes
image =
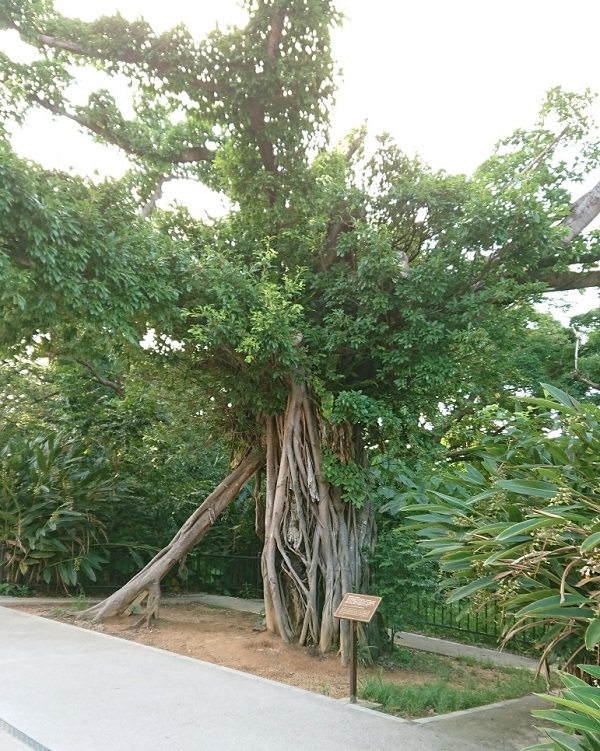
MULTIPOLYGON (((267 629, 285 642, 314 644, 321 652, 339 643, 342 665, 346 665, 349 623, 333 614, 346 592, 367 589, 366 555, 375 542, 375 518, 370 502, 361 507, 347 503, 340 488, 324 480, 322 446, 342 462, 360 463, 360 441, 353 426, 328 425, 307 387, 295 382, 285 413, 266 419, 265 440, 265 505, 260 516, 264 513, 267 629)), ((256 455, 242 461, 136 576, 78 617, 101 620, 135 611, 145 603, 137 623, 148 623, 157 614, 162 578, 196 545, 262 464, 256 455)))

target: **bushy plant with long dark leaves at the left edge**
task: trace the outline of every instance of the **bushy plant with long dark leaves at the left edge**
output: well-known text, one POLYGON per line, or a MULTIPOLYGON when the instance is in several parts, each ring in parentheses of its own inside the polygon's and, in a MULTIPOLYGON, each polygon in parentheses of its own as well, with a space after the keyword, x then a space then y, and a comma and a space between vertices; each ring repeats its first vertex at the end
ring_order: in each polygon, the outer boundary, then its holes
POLYGON ((0 482, 4 578, 62 588, 96 581, 118 503, 110 463, 64 433, 13 437, 0 452, 0 482))

